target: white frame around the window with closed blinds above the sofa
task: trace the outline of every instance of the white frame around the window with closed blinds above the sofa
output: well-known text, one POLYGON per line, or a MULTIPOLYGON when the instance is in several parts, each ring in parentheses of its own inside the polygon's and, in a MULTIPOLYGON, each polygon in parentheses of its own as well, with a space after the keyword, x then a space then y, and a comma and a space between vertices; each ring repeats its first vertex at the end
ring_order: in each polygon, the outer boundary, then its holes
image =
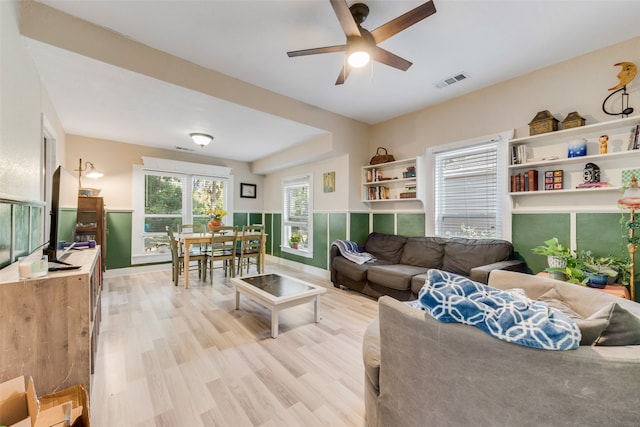
MULTIPOLYGON (((426 205, 430 207, 427 210, 427 235, 444 235, 438 227, 438 218, 441 213, 441 200, 439 197, 439 191, 441 188, 436 188, 439 178, 437 177, 437 161, 436 156, 446 155, 447 153, 455 154, 456 151, 469 150, 474 147, 483 146, 486 144, 494 143, 496 145, 496 196, 495 196, 495 212, 497 217, 497 228, 495 230, 495 236, 489 238, 497 239, 510 239, 511 237, 511 206, 507 192, 507 142, 513 137, 513 130, 500 132, 499 134, 487 135, 479 138, 474 138, 465 141, 459 141, 453 144, 440 145, 436 147, 430 147, 427 149, 427 170, 431 173, 431 186, 428 183, 427 188, 430 190, 427 192, 426 205)), ((449 237, 449 235, 444 235, 449 237)), ((460 237, 467 237, 462 234, 460 237)), ((483 237, 483 236, 468 236, 468 237, 483 237)))

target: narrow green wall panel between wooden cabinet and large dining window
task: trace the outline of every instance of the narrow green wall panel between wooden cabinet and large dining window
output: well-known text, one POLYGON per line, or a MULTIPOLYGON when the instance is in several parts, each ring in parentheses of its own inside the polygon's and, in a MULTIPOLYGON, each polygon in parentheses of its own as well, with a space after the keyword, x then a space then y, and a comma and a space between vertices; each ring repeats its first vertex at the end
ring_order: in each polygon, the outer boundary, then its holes
POLYGON ((107 211, 107 270, 131 267, 133 213, 107 211))

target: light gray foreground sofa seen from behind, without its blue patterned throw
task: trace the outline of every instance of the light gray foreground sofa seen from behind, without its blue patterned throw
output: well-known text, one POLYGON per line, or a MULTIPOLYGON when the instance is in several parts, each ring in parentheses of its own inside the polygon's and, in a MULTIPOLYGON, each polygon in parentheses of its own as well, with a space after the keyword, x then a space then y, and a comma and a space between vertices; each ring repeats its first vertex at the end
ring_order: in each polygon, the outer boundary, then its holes
POLYGON ((540 300, 551 290, 587 328, 606 329, 598 344, 540 350, 382 297, 363 339, 369 427, 640 425, 640 304, 510 271, 493 271, 489 285, 540 300), (616 303, 626 315, 608 308, 616 303))

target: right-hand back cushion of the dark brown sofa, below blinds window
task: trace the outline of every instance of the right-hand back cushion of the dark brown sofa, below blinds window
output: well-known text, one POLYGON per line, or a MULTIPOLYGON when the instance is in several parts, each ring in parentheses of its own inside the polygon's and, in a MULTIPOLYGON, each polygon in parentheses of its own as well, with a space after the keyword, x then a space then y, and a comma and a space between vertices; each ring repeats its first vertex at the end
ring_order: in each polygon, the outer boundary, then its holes
POLYGON ((452 237, 444 246, 442 270, 469 276, 473 267, 507 261, 512 255, 513 245, 506 240, 452 237))

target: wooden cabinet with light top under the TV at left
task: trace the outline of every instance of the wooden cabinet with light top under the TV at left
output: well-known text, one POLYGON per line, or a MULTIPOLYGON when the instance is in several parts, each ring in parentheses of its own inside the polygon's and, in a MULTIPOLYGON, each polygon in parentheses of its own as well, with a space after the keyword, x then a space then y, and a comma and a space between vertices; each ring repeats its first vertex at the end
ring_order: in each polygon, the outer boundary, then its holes
POLYGON ((100 331, 100 248, 71 251, 77 270, 18 278, 0 270, 0 382, 32 376, 39 394, 82 384, 90 394, 100 331))

